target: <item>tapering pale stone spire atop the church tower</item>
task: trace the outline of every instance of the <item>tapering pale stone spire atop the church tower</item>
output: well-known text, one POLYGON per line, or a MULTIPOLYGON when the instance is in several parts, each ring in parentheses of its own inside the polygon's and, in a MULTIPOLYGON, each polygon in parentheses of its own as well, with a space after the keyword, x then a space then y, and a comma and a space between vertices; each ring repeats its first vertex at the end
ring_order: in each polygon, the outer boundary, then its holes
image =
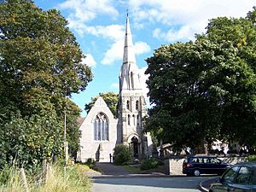
POLYGON ((131 27, 127 10, 123 65, 119 75, 119 91, 140 89, 140 76, 136 64, 135 52, 131 36, 131 27))

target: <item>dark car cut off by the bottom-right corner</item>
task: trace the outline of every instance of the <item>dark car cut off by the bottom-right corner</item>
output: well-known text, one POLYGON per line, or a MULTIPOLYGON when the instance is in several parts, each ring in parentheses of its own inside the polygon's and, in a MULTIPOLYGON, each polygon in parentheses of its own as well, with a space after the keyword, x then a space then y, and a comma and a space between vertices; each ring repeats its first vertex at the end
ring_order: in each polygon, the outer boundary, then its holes
POLYGON ((247 162, 231 166, 222 177, 215 179, 215 183, 211 184, 209 191, 256 191, 256 163, 247 162))

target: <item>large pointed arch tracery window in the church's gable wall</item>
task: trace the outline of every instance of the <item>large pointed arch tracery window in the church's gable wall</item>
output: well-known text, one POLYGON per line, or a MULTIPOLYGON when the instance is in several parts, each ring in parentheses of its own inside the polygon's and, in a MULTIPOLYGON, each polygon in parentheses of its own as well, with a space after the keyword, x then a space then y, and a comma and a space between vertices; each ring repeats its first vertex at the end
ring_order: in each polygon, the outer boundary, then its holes
POLYGON ((104 113, 98 113, 94 120, 94 140, 108 140, 108 117, 104 113))

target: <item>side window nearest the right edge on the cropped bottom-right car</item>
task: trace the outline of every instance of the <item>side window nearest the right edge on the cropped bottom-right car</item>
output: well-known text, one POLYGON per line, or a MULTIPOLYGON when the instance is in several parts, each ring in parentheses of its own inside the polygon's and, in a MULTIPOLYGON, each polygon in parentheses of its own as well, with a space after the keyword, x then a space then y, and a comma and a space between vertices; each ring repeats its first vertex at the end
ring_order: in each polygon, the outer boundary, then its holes
POLYGON ((255 184, 255 174, 252 167, 241 166, 237 177, 236 183, 239 184, 255 184))

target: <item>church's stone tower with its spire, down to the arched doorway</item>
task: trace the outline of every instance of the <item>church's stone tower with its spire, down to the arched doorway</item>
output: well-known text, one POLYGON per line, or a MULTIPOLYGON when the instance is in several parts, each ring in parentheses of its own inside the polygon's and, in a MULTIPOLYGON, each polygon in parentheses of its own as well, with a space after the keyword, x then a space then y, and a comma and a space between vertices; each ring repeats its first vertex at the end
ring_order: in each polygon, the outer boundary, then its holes
MULTIPOLYGON (((129 17, 126 17, 123 64, 119 73, 119 143, 131 147, 133 156, 148 155, 148 137, 142 134, 147 105, 137 68, 129 17)), ((151 138, 149 139, 151 141, 151 138)))

